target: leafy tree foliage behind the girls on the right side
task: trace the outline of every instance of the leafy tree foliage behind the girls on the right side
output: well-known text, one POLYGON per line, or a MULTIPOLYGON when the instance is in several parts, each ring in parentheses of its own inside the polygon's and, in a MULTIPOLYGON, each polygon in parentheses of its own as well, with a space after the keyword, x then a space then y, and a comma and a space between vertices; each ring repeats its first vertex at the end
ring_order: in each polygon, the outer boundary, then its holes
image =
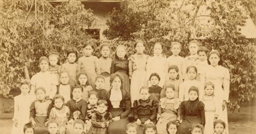
POLYGON ((150 55, 154 43, 160 42, 163 53, 170 56, 171 42, 178 41, 182 44, 180 55, 185 57, 189 55, 188 43, 193 39, 210 50, 219 50, 220 63, 231 74, 229 106, 234 111, 238 104, 255 97, 256 46, 240 32, 247 14, 253 15, 254 9, 248 5, 255 4, 253 0, 128 1, 111 13, 105 36, 115 38, 111 41, 113 48, 116 44, 126 44, 129 54, 134 52, 133 43, 137 39, 145 41, 145 53, 150 55))

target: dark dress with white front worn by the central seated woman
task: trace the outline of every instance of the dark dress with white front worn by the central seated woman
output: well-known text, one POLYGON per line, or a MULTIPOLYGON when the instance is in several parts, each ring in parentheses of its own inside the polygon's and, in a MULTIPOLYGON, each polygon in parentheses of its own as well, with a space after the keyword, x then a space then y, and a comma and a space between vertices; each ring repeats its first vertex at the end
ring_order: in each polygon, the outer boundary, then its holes
MULTIPOLYGON (((111 89, 115 90, 115 89, 111 89)), ((121 90, 121 100, 114 99, 115 94, 108 92, 108 111, 112 114, 112 117, 120 117, 120 120, 113 121, 109 124, 108 134, 126 134, 125 127, 129 123, 128 115, 131 112, 131 100, 130 95, 125 90, 121 90), (113 94, 113 96, 111 95, 113 94), (117 105, 116 105, 117 104, 117 105)))

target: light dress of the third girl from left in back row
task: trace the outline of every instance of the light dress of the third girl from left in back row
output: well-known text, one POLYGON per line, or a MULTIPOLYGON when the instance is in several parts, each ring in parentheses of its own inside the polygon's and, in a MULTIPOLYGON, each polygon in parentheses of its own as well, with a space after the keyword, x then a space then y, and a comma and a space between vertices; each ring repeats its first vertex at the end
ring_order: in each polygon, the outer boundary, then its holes
POLYGON ((77 84, 77 63, 64 63, 61 66, 61 71, 67 71, 70 77, 69 83, 74 86, 77 84))

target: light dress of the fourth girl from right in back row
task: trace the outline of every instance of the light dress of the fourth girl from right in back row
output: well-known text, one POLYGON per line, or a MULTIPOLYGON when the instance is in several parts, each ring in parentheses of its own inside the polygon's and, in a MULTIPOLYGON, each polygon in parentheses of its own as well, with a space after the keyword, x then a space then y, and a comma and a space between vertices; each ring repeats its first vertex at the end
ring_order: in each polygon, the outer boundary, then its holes
MULTIPOLYGON (((184 79, 184 75, 186 74, 186 63, 185 63, 185 59, 181 56, 170 56, 167 58, 167 64, 168 64, 168 68, 172 65, 176 65, 179 68, 179 80, 181 81, 182 79, 184 79)), ((168 70, 167 70, 167 74, 168 74, 168 70)))

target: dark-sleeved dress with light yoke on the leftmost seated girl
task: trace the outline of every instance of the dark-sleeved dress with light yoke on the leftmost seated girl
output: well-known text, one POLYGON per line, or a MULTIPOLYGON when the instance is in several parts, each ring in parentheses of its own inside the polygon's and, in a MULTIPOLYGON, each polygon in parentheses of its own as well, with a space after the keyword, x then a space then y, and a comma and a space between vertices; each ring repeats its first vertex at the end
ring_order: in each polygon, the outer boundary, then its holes
POLYGON ((35 121, 35 134, 44 134, 48 132, 45 123, 52 109, 51 102, 47 100, 35 100, 30 106, 29 121, 35 121))

